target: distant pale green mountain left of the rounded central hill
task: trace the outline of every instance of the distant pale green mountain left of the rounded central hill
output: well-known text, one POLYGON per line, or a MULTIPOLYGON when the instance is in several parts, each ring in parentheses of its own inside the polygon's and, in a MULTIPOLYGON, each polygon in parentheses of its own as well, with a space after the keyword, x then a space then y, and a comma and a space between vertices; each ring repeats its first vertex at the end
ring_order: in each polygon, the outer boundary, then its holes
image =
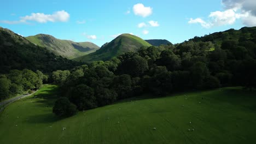
POLYGON ((56 39, 48 34, 37 34, 26 37, 26 39, 31 41, 31 43, 46 47, 46 49, 53 52, 55 55, 69 59, 84 56, 100 49, 100 47, 90 42, 75 43, 71 40, 56 39))

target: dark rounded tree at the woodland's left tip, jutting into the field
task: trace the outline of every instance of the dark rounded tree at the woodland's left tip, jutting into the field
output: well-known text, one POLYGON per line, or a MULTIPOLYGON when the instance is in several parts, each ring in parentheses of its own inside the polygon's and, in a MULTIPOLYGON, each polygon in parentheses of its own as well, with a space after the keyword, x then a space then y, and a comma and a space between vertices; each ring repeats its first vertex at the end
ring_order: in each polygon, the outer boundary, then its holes
POLYGON ((73 116, 77 113, 77 106, 70 103, 66 97, 61 97, 56 100, 53 107, 53 113, 57 116, 73 116))

